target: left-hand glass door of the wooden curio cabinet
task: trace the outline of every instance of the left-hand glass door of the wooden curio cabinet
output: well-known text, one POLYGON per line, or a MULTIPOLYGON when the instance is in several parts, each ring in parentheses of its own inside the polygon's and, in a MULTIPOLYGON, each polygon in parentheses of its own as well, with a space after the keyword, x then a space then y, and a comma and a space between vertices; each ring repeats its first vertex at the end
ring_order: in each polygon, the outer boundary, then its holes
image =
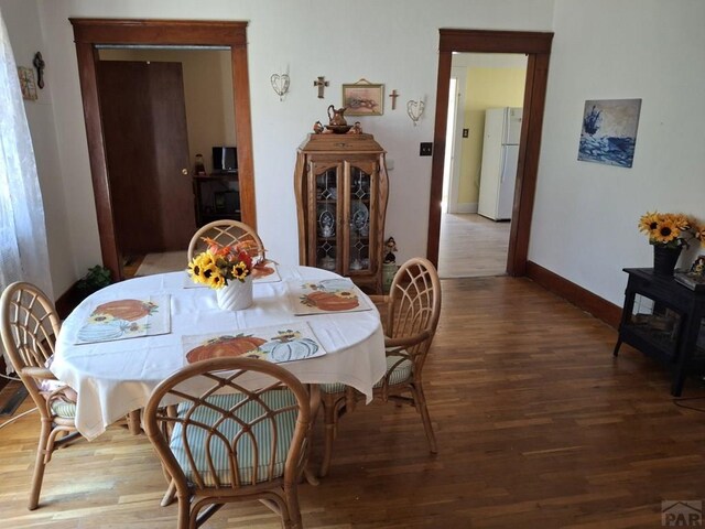
POLYGON ((340 226, 340 174, 341 165, 330 163, 311 163, 311 191, 315 195, 310 202, 311 234, 313 242, 310 255, 315 256, 316 267, 338 271, 339 240, 343 238, 340 226))

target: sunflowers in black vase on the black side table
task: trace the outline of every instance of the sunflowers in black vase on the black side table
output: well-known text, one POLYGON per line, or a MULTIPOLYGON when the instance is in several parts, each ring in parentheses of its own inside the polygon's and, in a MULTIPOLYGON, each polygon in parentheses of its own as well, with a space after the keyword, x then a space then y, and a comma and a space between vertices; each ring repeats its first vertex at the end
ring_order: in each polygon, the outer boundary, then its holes
POLYGON ((648 212, 639 219, 639 230, 653 246, 655 273, 673 274, 681 250, 690 248, 693 240, 705 245, 705 226, 682 213, 648 212))

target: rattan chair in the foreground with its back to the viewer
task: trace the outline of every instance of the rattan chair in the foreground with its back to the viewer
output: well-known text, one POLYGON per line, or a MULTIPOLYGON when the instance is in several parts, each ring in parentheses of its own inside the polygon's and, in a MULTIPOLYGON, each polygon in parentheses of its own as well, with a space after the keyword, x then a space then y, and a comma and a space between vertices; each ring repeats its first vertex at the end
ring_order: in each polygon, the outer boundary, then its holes
POLYGON ((177 527, 199 527, 224 504, 252 499, 284 527, 302 527, 297 484, 318 401, 317 386, 310 395, 284 368, 251 358, 198 361, 161 382, 144 427, 176 490, 177 527), (251 384, 261 389, 245 388, 251 384))

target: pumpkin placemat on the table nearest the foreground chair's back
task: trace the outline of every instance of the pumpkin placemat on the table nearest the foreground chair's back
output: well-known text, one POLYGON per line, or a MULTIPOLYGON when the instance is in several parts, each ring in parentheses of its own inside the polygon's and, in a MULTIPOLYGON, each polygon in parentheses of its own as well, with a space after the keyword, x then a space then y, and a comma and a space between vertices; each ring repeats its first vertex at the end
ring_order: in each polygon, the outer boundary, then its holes
POLYGON ((188 364, 236 356, 281 363, 326 354, 305 322, 249 328, 232 334, 182 336, 182 344, 188 364))

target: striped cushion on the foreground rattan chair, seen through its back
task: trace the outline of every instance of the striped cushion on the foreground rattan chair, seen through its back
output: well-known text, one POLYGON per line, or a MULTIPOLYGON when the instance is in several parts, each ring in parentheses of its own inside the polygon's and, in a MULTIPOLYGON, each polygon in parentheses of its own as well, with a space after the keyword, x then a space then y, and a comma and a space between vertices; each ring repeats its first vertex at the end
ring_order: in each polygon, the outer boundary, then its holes
MULTIPOLYGON (((241 393, 217 395, 206 399, 209 403, 223 409, 230 409, 238 402, 245 400, 245 396, 241 393)), ((296 406, 296 397, 289 390, 272 390, 264 392, 260 396, 261 400, 272 410, 286 408, 290 406, 296 406)), ((183 402, 178 406, 178 417, 183 418, 191 410, 193 404, 191 402, 183 402)), ((245 422, 252 422, 256 418, 261 417, 264 413, 264 408, 254 401, 250 401, 235 413, 238 419, 245 422)), ((275 415, 274 424, 276 430, 278 445, 274 454, 274 469, 272 477, 279 477, 284 474, 284 463, 286 461, 286 454, 291 445, 292 436, 296 425, 296 417, 299 414, 297 408, 282 412, 275 415)), ((212 410, 199 406, 198 409, 191 415, 192 421, 197 421, 207 427, 217 425, 218 432, 220 432, 229 443, 232 442, 235 436, 242 430, 240 424, 232 419, 223 420, 223 413, 217 410, 212 410), (221 421, 223 420, 223 421, 221 421), (220 422, 221 421, 221 422, 220 422)), ((272 458, 272 428, 271 421, 264 420, 258 422, 251 427, 251 432, 257 439, 259 446, 259 460, 257 465, 257 483, 265 482, 269 479, 269 465, 272 458)), ((182 438, 183 425, 176 423, 172 432, 170 442, 170 449, 178 465, 184 471, 186 478, 191 483, 194 482, 194 472, 188 462, 186 450, 184 449, 184 440, 182 438)), ((213 464, 217 474, 215 478, 213 472, 208 467, 206 458, 206 435, 207 431, 203 428, 189 424, 186 428, 188 445, 194 457, 194 463, 198 472, 203 476, 206 486, 230 485, 230 466, 228 463, 228 449, 224 444, 224 441, 217 436, 212 436, 208 441, 209 450, 213 457, 213 464)), ((250 440, 250 436, 246 433, 237 442, 237 465, 240 475, 241 484, 252 483, 253 473, 253 454, 254 446, 250 440)))

